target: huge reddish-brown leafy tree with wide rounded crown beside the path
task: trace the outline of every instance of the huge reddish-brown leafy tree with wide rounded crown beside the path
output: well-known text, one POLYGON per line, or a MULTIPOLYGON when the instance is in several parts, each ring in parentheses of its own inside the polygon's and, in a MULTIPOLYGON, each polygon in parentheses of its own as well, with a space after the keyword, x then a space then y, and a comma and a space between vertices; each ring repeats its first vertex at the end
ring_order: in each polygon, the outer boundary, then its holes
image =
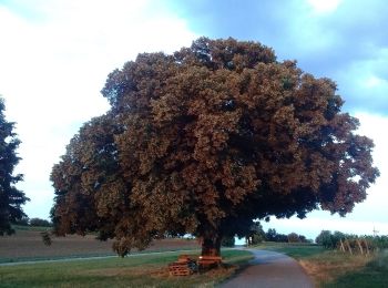
POLYGON ((200 38, 139 54, 102 94, 111 110, 52 169, 52 219, 57 234, 115 237, 121 255, 185 233, 218 254, 253 219, 346 215, 378 176, 336 84, 257 42, 200 38))

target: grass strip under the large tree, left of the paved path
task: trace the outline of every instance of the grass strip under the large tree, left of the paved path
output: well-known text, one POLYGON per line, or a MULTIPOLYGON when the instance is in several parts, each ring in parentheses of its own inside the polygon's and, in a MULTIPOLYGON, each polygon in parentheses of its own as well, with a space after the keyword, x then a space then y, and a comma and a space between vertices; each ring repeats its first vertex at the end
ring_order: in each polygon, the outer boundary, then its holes
POLYGON ((224 250, 224 268, 172 277, 166 267, 178 254, 0 266, 0 287, 213 287, 252 258, 248 251, 224 250))

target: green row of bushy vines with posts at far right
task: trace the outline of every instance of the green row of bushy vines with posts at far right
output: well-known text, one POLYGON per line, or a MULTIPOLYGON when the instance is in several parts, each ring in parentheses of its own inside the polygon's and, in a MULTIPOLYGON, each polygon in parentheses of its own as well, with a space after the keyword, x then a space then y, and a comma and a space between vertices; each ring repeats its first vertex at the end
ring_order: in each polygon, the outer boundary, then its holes
POLYGON ((324 246, 327 249, 337 249, 340 246, 340 241, 349 240, 363 240, 367 241, 368 246, 372 249, 386 249, 388 248, 388 236, 372 236, 372 235, 353 235, 353 234, 345 234, 341 232, 329 232, 329 230, 321 230, 320 234, 317 236, 315 241, 321 246, 324 246))

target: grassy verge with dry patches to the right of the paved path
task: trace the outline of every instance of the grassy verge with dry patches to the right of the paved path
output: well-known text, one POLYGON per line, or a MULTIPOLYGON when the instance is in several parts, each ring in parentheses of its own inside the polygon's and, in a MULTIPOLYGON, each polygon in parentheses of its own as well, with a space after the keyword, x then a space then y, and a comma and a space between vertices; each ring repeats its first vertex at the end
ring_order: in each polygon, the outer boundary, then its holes
POLYGON ((315 245, 266 244, 259 247, 297 259, 317 287, 388 287, 387 250, 366 257, 325 250, 315 245))

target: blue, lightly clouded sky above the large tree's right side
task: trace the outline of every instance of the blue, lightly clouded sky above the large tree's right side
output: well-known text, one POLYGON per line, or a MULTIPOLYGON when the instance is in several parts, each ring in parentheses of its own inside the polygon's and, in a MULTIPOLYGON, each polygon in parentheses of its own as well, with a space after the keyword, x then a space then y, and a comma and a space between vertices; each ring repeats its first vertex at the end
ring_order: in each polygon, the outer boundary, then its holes
POLYGON ((351 111, 388 113, 386 1, 171 1, 194 32, 256 40, 339 83, 351 111))

